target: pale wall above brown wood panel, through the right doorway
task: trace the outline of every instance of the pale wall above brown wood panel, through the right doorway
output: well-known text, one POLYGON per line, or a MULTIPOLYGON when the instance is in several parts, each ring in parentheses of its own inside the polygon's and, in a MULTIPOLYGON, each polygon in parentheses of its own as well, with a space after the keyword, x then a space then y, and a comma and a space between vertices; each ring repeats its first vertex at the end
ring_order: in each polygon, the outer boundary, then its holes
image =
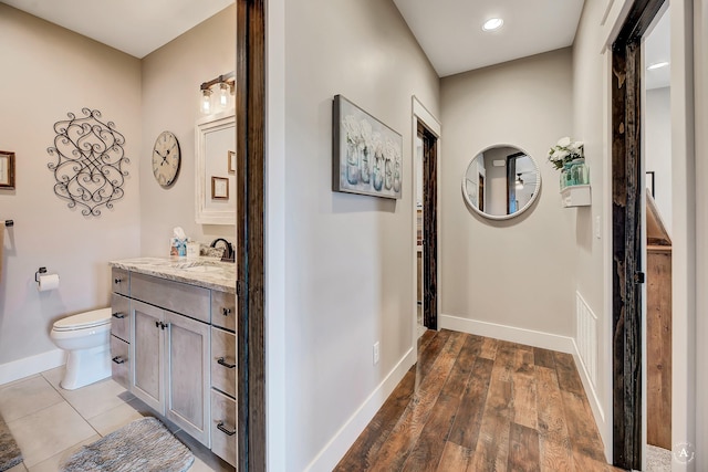
MULTIPOLYGON (((671 233, 671 93, 670 87, 646 92, 646 170, 654 170, 654 200, 671 233)), ((648 182, 647 182, 648 187, 648 182)))

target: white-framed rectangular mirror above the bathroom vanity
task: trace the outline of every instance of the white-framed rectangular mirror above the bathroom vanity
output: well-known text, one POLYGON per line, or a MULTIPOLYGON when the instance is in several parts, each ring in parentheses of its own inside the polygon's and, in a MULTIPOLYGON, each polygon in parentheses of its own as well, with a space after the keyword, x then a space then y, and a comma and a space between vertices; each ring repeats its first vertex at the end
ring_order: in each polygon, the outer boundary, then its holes
POLYGON ((196 220, 236 224, 236 117, 210 115, 196 127, 196 220))

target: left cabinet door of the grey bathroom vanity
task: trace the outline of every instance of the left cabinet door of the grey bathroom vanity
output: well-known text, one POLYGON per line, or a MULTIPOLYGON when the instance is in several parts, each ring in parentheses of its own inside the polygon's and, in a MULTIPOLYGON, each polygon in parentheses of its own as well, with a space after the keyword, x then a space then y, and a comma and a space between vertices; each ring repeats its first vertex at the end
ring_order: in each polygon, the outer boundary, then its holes
POLYGON ((165 415, 163 310, 132 301, 133 319, 133 378, 131 391, 148 407, 165 415))

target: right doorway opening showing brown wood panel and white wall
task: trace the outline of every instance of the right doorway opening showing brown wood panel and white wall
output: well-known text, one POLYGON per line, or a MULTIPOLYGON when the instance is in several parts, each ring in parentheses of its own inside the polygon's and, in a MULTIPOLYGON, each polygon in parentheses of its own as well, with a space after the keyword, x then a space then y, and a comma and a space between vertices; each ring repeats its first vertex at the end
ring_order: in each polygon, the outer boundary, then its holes
POLYGON ((670 7, 664 3, 643 38, 642 139, 646 238, 645 378, 646 462, 671 459, 673 185, 670 7))

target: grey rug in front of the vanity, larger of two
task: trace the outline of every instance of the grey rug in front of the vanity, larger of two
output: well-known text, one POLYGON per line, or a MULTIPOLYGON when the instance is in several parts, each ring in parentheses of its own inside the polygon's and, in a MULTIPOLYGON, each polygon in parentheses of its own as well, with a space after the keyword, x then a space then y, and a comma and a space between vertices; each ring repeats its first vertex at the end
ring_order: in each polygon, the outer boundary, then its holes
POLYGON ((142 418, 84 445, 60 468, 62 472, 184 472, 195 457, 156 418, 142 418))

